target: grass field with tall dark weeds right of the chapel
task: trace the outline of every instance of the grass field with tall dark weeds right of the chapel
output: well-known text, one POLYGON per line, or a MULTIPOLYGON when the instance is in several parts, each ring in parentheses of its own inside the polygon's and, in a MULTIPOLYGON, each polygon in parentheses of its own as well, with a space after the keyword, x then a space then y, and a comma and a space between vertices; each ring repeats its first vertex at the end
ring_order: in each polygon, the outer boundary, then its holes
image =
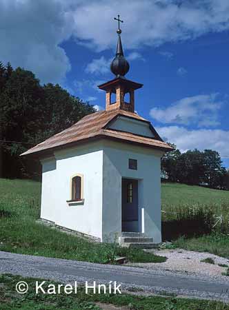
POLYGON ((172 183, 161 189, 162 226, 175 236, 174 246, 229 258, 229 192, 172 183), (187 235, 188 227, 188 238, 177 237, 187 235))

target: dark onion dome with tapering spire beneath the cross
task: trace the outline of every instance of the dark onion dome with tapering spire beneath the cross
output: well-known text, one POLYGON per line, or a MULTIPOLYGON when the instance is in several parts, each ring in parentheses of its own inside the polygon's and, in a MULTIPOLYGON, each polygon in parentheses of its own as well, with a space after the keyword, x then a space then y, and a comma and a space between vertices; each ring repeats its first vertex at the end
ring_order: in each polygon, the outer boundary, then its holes
POLYGON ((112 73, 114 73, 117 77, 123 77, 130 69, 130 65, 123 54, 123 47, 121 45, 121 29, 119 28, 117 30, 118 34, 118 42, 117 42, 117 50, 116 50, 116 56, 112 60, 112 63, 110 64, 110 70, 112 73))

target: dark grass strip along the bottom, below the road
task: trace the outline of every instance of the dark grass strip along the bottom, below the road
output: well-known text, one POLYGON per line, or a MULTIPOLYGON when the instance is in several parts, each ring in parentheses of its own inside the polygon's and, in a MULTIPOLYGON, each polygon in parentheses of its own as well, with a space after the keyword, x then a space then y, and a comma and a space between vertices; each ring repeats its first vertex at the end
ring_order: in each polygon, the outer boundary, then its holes
MULTIPOLYGON (((0 309, 22 309, 22 310, 99 310, 101 309, 96 302, 101 304, 115 304, 115 306, 126 306, 127 309, 136 310, 229 310, 228 304, 209 300, 191 300, 184 298, 161 297, 161 296, 132 296, 130 294, 86 294, 85 289, 77 288, 77 294, 48 295, 35 293, 35 281, 39 284, 41 279, 21 278, 20 276, 2 275, 0 276, 0 309), (28 292, 24 295, 16 293, 17 282, 26 281, 28 292)), ((57 283, 48 282, 43 286, 47 291, 48 285, 57 283)))

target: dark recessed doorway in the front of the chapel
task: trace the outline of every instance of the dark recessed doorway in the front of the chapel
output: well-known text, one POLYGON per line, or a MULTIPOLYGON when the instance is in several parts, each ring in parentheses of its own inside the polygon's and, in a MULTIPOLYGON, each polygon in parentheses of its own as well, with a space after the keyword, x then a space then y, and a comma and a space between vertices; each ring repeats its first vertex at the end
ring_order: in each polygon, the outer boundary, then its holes
POLYGON ((123 178, 121 183, 121 230, 139 231, 138 180, 123 178))

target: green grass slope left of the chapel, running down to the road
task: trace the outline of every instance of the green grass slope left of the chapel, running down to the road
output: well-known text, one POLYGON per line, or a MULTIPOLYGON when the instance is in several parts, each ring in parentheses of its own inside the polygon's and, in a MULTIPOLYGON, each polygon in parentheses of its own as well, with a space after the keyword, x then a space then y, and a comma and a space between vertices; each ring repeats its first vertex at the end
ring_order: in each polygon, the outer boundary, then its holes
POLYGON ((163 262, 166 258, 141 249, 94 243, 46 227, 40 214, 41 183, 0 179, 0 250, 89 262, 114 262, 126 256, 130 262, 163 262))

